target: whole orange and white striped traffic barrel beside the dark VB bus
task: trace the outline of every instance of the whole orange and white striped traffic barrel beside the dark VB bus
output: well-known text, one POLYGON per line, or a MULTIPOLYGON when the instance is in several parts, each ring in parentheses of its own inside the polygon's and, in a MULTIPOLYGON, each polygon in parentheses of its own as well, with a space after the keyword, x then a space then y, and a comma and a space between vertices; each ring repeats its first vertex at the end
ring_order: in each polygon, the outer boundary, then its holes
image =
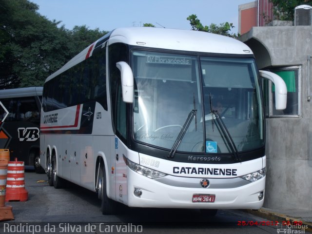
POLYGON ((8 163, 8 176, 6 181, 5 201, 27 201, 28 192, 24 182, 24 162, 10 161, 8 163))

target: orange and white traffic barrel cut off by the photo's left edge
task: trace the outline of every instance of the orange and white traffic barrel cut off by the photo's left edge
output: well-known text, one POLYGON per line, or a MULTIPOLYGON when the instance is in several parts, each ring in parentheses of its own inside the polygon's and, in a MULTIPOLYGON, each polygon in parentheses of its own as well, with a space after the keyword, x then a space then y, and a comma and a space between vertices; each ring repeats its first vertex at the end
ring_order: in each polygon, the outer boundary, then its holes
POLYGON ((0 221, 14 219, 11 206, 5 206, 8 161, 0 159, 0 221))

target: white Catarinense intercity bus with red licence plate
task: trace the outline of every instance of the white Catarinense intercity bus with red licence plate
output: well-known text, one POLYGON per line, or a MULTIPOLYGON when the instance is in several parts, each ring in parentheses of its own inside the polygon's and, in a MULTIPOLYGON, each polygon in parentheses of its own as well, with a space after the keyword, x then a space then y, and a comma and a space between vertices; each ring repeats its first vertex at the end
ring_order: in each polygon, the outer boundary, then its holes
POLYGON ((55 188, 69 180, 129 207, 259 209, 265 193, 261 78, 244 43, 210 33, 119 28, 44 84, 40 163, 55 188))

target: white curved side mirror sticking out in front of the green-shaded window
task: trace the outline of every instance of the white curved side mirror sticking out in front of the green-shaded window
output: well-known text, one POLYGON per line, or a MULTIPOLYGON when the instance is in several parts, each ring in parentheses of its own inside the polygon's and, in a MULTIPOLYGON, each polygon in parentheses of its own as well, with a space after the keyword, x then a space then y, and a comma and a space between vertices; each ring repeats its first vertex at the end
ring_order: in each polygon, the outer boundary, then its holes
POLYGON ((260 77, 270 79, 275 85, 275 109, 284 110, 287 104, 287 87, 284 80, 268 71, 259 71, 260 77))

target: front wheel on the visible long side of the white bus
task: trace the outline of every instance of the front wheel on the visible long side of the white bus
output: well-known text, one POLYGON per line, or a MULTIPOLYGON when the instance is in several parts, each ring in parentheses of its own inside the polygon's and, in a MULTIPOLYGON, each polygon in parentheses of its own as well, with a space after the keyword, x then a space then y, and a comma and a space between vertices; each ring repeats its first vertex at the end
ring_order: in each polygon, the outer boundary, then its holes
POLYGON ((114 215, 116 214, 117 203, 110 199, 106 194, 106 174, 104 165, 100 164, 98 170, 98 196, 101 199, 101 212, 103 215, 114 215))

